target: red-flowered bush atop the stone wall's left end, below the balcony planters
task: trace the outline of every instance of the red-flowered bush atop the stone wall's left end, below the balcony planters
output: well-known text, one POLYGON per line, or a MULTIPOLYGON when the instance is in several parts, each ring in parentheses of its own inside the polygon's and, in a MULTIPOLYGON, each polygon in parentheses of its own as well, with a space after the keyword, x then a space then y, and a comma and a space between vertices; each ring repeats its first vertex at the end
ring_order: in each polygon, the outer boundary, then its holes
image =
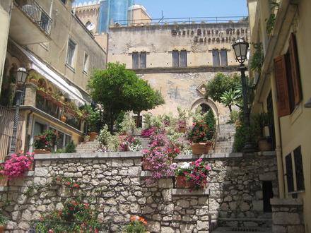
POLYGON ((34 145, 36 149, 52 150, 54 145, 57 144, 58 139, 59 136, 57 131, 49 129, 35 136, 34 145))

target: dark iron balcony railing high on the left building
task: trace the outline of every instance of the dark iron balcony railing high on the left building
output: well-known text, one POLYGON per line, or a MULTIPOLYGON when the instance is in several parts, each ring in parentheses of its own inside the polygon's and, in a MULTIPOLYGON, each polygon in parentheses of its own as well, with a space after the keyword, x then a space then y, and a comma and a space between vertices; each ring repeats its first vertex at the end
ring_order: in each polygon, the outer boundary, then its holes
POLYGON ((46 35, 51 35, 52 18, 35 0, 15 0, 18 8, 37 25, 46 35))

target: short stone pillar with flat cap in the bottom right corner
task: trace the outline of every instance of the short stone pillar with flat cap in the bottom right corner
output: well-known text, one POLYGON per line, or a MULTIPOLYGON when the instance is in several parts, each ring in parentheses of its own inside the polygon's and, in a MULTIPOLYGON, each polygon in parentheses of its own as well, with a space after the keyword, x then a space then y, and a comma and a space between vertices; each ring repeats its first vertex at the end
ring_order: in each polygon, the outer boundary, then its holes
POLYGON ((273 198, 270 203, 272 205, 272 232, 305 233, 301 199, 273 198))

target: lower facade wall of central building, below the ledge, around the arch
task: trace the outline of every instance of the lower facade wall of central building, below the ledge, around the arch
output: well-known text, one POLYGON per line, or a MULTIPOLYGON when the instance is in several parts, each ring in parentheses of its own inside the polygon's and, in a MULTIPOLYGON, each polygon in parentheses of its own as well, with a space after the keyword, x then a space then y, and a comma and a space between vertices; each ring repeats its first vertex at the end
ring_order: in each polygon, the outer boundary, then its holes
MULTIPOLYGON (((229 72, 224 72, 228 73, 229 72)), ((200 104, 209 104, 219 124, 225 124, 229 120, 228 107, 212 100, 204 99, 205 84, 214 78, 214 72, 202 73, 144 73, 139 75, 155 89, 159 90, 165 100, 165 104, 148 112, 153 114, 165 114, 172 112, 177 115, 177 107, 183 109, 196 109, 200 104)))

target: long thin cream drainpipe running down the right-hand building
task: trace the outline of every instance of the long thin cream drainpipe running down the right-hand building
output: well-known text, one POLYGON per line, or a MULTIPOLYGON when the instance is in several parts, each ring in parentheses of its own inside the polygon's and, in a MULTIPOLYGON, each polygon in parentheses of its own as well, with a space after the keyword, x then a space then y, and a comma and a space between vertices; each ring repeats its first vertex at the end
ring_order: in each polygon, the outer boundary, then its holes
POLYGON ((284 171, 283 171, 283 157, 282 157, 282 141, 281 141, 281 127, 278 118, 278 103, 276 102, 276 80, 273 74, 270 74, 272 102, 274 104, 274 127, 276 133, 276 160, 278 164, 278 195, 279 198, 285 198, 284 186, 284 171))

